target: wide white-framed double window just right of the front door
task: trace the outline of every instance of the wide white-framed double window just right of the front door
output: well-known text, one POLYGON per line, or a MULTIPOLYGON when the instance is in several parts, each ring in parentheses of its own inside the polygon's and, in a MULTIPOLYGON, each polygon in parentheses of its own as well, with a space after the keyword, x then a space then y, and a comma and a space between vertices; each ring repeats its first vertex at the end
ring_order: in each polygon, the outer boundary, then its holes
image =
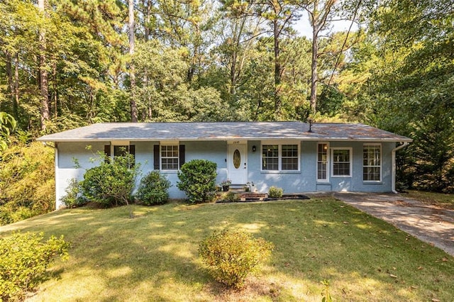
POLYGON ((263 171, 298 171, 298 145, 262 145, 263 171))

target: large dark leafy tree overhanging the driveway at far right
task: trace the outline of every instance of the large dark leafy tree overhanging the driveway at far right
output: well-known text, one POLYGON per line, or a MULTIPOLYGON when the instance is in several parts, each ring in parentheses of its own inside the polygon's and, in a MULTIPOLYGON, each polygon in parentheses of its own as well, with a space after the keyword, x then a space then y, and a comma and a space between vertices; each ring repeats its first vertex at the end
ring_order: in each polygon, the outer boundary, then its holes
POLYGON ((366 4, 376 10, 368 16, 367 44, 353 52, 355 65, 369 74, 355 111, 414 138, 402 160, 407 187, 453 191, 454 8, 432 0, 366 4))

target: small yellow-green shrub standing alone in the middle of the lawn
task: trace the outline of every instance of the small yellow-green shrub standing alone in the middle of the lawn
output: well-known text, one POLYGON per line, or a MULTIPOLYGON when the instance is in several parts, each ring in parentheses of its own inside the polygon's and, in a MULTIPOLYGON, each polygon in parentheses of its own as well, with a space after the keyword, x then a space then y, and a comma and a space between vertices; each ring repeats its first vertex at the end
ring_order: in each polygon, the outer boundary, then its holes
POLYGON ((215 232, 199 245, 199 255, 214 278, 237 289, 248 274, 255 272, 274 246, 262 238, 241 231, 215 232))

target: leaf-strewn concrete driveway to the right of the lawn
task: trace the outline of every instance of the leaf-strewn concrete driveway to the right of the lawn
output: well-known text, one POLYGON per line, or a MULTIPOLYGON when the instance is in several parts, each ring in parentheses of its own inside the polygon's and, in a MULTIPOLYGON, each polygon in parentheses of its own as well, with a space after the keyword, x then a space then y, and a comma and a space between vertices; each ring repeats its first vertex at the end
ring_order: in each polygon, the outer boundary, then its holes
POLYGON ((454 211, 399 194, 335 193, 335 198, 454 256, 454 211))

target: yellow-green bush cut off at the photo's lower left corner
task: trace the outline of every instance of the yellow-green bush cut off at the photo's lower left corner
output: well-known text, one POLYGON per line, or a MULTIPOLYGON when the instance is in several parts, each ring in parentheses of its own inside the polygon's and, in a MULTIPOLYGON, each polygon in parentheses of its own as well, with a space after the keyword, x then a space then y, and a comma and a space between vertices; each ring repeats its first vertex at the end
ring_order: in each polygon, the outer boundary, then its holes
POLYGON ((56 256, 67 259, 70 244, 63 236, 51 236, 42 242, 43 233, 14 233, 0 238, 0 298, 20 301, 45 276, 45 270, 56 256))

